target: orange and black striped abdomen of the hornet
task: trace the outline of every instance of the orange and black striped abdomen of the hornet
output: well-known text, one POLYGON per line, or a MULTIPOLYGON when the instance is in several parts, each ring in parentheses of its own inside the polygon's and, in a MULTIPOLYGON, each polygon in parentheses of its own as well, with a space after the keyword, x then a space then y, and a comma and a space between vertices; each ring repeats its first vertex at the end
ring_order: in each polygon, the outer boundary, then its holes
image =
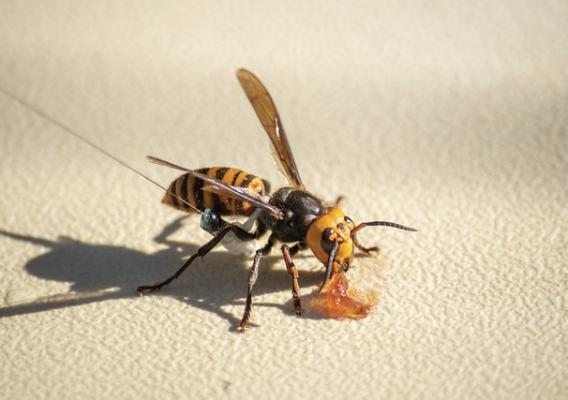
MULTIPOLYGON (((267 181, 238 168, 213 167, 201 168, 197 171, 228 185, 248 188, 262 195, 268 194, 270 190, 267 181)), ((187 204, 171 195, 171 193, 175 193, 177 197, 184 199, 200 210, 210 208, 221 215, 250 215, 254 210, 254 207, 246 202, 231 199, 222 194, 206 192, 201 190, 202 187, 203 181, 201 179, 184 174, 170 184, 168 192, 162 198, 162 203, 181 211, 192 211, 187 204)))

